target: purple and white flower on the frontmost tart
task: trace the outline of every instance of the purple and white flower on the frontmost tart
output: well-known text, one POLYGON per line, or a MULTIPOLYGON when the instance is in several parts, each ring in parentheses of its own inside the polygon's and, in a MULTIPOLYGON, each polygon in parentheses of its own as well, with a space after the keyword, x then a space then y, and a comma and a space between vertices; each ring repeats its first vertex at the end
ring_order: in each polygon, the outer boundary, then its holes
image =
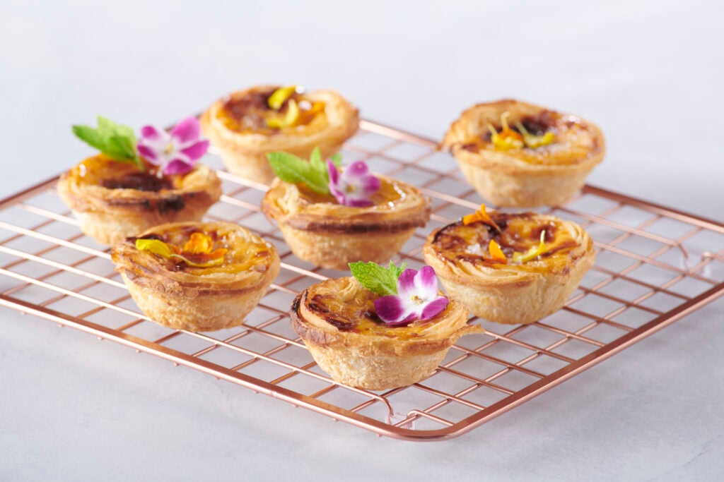
POLYGON ((429 266, 423 266, 419 271, 403 271, 397 278, 397 295, 382 296, 374 301, 377 316, 391 325, 430 319, 446 306, 447 298, 437 295, 437 276, 429 266))

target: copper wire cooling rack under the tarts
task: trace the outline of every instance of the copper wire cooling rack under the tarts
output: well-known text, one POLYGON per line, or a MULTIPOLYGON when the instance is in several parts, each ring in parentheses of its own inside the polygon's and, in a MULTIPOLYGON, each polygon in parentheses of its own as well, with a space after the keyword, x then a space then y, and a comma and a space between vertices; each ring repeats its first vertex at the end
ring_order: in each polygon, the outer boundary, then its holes
MULTIPOLYGON (((419 267, 427 233, 481 202, 432 140, 365 121, 342 154, 421 186, 433 199, 432 220, 395 262, 419 267)), ((213 154, 205 162, 222 168, 213 154)), ((282 257, 279 277, 242 327, 192 333, 143 316, 108 249, 83 236, 58 199, 56 178, 0 202, 0 304, 376 434, 434 440, 480 426, 724 294, 723 224, 586 186, 546 210, 584 225, 598 251, 596 266, 564 309, 530 325, 473 319, 486 334, 461 339, 432 376, 411 387, 345 387, 317 368, 287 316, 298 291, 340 272, 290 253, 259 212, 266 186, 219 175, 225 194, 207 217, 251 228, 282 257)))

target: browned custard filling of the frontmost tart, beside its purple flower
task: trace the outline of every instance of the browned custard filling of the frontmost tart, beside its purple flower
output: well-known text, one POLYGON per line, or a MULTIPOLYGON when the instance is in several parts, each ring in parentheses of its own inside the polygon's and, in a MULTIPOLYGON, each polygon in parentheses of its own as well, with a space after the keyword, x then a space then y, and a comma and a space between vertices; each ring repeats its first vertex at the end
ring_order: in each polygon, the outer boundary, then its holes
MULTIPOLYGON (((355 332, 361 335, 375 335, 400 340, 410 340, 421 336, 431 323, 439 322, 445 318, 450 311, 450 305, 440 314, 432 319, 416 321, 406 326, 392 327, 376 315, 374 300, 378 295, 358 286, 350 287, 353 291, 340 296, 340 291, 334 288, 338 286, 326 286, 324 283, 316 286, 316 289, 308 291, 303 298, 306 309, 325 322, 337 327, 342 332, 355 332)), ((346 287, 342 291, 346 291, 346 287)))

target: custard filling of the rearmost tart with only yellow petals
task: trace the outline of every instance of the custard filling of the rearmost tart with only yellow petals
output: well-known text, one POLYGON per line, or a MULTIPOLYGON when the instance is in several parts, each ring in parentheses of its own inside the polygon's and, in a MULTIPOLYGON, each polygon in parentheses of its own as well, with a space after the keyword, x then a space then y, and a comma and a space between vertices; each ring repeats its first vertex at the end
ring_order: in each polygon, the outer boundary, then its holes
POLYGON ((324 103, 313 100, 306 94, 293 92, 284 100, 280 108, 269 106, 269 98, 279 87, 260 87, 249 90, 243 95, 232 95, 219 111, 219 120, 227 129, 234 132, 256 132, 258 134, 277 134, 301 130, 311 134, 327 127, 327 113, 324 103), (293 104, 293 105, 292 105, 293 104), (298 108, 298 119, 291 126, 274 126, 272 119, 283 119, 290 108, 298 108), (271 125, 270 125, 271 124, 271 125))

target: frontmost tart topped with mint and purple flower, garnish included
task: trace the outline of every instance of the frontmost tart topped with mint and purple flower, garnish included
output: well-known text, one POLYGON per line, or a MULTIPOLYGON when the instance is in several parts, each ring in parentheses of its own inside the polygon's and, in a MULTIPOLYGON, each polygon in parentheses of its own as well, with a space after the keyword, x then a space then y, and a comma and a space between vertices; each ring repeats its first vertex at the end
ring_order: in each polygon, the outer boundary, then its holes
POLYGON ((292 303, 292 327, 335 382, 366 390, 406 387, 426 378, 463 335, 465 307, 420 270, 350 263, 352 275, 324 280, 292 303))

